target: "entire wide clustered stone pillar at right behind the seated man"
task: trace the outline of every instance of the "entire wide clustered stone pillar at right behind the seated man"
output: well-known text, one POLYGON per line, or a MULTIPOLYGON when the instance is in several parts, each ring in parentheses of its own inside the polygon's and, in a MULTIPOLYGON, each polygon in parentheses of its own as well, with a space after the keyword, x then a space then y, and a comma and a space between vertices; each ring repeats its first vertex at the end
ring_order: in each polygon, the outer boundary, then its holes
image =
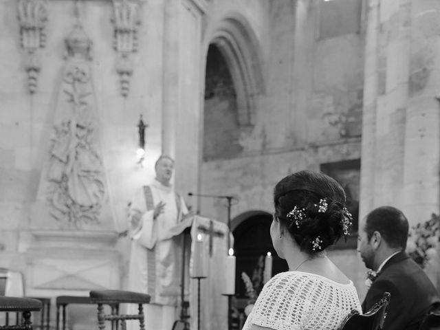
POLYGON ((361 219, 382 205, 410 224, 439 206, 435 1, 371 0, 366 31, 361 219))

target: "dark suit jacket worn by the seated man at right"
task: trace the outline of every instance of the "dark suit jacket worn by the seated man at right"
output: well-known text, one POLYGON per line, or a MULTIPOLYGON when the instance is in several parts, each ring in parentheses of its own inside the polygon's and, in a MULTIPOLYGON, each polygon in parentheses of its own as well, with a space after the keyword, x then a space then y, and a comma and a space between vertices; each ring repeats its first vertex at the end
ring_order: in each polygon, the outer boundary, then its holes
POLYGON ((391 294, 384 330, 419 329, 421 319, 432 304, 440 302, 428 276, 403 251, 382 267, 362 303, 364 313, 382 298, 384 292, 391 294))

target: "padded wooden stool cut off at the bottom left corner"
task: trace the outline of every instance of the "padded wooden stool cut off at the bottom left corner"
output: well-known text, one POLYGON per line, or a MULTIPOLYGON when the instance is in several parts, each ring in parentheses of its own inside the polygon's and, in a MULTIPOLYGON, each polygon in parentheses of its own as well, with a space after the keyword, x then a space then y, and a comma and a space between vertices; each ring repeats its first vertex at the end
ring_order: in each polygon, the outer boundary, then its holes
POLYGON ((41 311, 41 301, 31 298, 0 296, 0 311, 22 315, 17 325, 1 325, 1 330, 32 330, 31 311, 41 311))

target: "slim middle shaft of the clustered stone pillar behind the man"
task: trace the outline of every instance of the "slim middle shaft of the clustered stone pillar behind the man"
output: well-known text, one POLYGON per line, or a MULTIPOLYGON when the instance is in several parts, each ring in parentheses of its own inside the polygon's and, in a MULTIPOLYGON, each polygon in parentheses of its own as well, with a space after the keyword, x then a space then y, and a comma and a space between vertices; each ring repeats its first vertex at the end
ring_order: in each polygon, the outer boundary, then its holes
POLYGON ((375 205, 402 206, 404 130, 408 106, 410 1, 380 7, 379 95, 376 108, 375 205))

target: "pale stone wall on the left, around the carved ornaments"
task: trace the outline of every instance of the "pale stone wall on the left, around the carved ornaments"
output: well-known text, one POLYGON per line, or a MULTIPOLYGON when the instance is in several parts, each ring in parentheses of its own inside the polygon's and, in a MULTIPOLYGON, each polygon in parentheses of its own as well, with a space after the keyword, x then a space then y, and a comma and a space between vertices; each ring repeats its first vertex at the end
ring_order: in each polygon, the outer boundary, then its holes
MULTIPOLYGON (((35 212, 45 208, 43 184, 45 173, 50 173, 47 159, 52 148, 54 118, 59 111, 69 110, 58 104, 60 98, 67 95, 62 88, 63 69, 69 61, 65 39, 76 23, 76 2, 43 1, 47 14, 43 29, 45 45, 36 51, 40 71, 36 80, 32 80, 30 93, 26 72, 28 56, 21 47, 23 36, 17 19, 19 1, 0 1, 0 263, 2 267, 28 276, 27 294, 49 294, 47 290, 51 288, 52 291, 69 289, 68 276, 63 281, 54 278, 54 283, 57 280, 58 284, 52 287, 50 283, 40 288, 32 287, 41 283, 32 276, 41 279, 47 274, 45 270, 34 272, 34 261, 46 259, 54 248, 57 249, 56 258, 67 258, 72 263, 83 258, 86 265, 87 260, 102 257, 111 263, 111 270, 104 266, 92 283, 98 285, 95 280, 105 270, 114 272, 114 276, 104 276, 106 281, 99 285, 124 287, 129 239, 118 234, 128 226, 128 201, 141 184, 153 179, 153 165, 160 153, 176 158, 177 172, 183 169, 181 173, 185 175, 176 178, 178 186, 197 186, 200 34, 206 1, 171 1, 178 4, 175 7, 167 6, 162 0, 139 2, 136 12, 140 24, 134 25, 137 51, 130 54, 133 72, 126 97, 122 95, 121 77, 117 72, 120 54, 113 49, 113 2, 79 1, 80 25, 92 42, 91 56, 85 63, 91 70, 90 89, 94 91, 93 110, 95 124, 99 127, 97 150, 105 178, 106 210, 100 214, 95 228, 81 225, 69 228, 67 236, 63 221, 53 219, 50 214, 43 216, 35 212), (170 22, 175 22, 174 26, 170 22), (176 25, 179 22, 183 28, 176 25), (176 49, 178 52, 173 53, 176 49), (179 61, 164 53, 177 56, 179 61), (176 104, 179 104, 178 109, 176 104), (148 124, 146 157, 142 164, 138 163, 136 155, 140 114, 148 124), (177 136, 185 136, 189 142, 178 151, 175 150, 175 144, 180 141, 177 136), (87 258, 83 257, 85 255, 87 258)), ((45 265, 56 267, 52 261, 45 265)), ((74 274, 69 267, 65 265, 68 273, 74 274)), ((58 273, 55 271, 55 274, 58 273)), ((93 274, 85 276, 94 277, 93 274)), ((78 284, 69 283, 72 289, 78 284)), ((85 286, 87 283, 78 284, 76 289, 85 286)))

